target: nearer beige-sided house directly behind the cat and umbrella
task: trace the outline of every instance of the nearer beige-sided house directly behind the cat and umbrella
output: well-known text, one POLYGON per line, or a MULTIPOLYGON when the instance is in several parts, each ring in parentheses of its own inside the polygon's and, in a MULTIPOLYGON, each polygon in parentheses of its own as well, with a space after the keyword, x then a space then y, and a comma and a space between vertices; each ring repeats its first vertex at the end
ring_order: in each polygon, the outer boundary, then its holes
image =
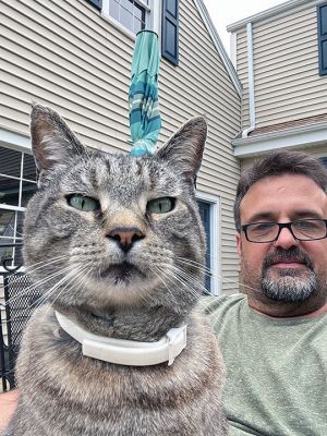
MULTIPOLYGON (((161 43, 159 144, 189 118, 206 114, 197 198, 214 272, 208 286, 215 294, 238 289, 232 205, 240 164, 231 140, 240 132, 242 87, 203 1, 2 0, 0 13, 0 244, 21 241, 36 190, 31 104, 58 110, 89 147, 129 150, 134 39, 149 28, 161 43)), ((20 263, 19 249, 14 257, 20 263)))

